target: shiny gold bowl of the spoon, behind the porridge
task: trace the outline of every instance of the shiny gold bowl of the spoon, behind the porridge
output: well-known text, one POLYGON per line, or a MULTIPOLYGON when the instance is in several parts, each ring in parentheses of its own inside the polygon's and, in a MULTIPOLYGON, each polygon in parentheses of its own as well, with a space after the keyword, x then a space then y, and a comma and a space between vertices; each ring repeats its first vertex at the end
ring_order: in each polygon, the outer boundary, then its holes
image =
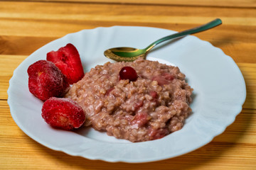
POLYGON ((145 57, 145 50, 134 47, 114 47, 105 50, 104 55, 117 62, 132 62, 139 57, 145 57))

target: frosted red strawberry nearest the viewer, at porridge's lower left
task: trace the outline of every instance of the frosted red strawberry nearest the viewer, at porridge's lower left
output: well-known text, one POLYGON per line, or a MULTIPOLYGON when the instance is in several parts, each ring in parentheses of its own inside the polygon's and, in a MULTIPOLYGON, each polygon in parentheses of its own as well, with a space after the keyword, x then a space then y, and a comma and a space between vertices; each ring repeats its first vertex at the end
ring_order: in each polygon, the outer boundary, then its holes
POLYGON ((70 98, 49 98, 43 103, 42 117, 49 125, 63 130, 80 128, 85 122, 81 106, 70 98))

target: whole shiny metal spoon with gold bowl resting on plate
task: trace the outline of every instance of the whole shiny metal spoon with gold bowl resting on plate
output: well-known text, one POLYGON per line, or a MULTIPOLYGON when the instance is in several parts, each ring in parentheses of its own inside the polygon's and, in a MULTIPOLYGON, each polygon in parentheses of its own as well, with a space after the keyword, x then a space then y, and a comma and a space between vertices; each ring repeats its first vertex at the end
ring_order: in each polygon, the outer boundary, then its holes
POLYGON ((156 40, 155 42, 152 42, 151 45, 144 49, 137 49, 133 47, 114 47, 110 48, 109 50, 105 50, 104 55, 112 60, 115 60, 117 62, 132 62, 134 60, 137 60, 139 57, 145 58, 149 50, 151 50, 153 47, 158 45, 161 42, 164 42, 166 40, 170 40, 173 38, 182 37, 185 35, 190 35, 194 33, 199 33, 203 30, 208 30, 210 28, 213 28, 215 26, 219 26, 222 23, 222 21, 217 18, 210 23, 206 23, 203 26, 199 26, 196 28, 191 28, 189 30, 183 30, 178 33, 174 33, 172 35, 168 35, 164 38, 161 38, 159 40, 156 40))

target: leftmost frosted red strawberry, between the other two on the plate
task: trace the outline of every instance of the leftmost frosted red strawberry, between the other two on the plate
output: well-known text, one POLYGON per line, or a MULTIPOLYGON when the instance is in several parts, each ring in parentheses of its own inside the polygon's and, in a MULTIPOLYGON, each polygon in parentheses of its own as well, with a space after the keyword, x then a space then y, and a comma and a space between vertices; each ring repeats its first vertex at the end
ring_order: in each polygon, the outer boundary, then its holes
POLYGON ((61 97, 69 89, 68 80, 60 69, 46 60, 39 60, 28 67, 28 89, 37 98, 46 101, 61 97))

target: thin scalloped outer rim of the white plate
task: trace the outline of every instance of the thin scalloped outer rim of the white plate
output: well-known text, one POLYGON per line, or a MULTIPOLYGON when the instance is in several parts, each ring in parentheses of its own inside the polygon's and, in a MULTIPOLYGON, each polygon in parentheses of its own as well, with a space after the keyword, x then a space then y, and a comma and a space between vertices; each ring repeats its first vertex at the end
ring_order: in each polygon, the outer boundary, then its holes
MULTIPOLYGON (((55 41, 58 41, 58 40, 60 40, 60 39, 62 39, 62 38, 67 38, 67 37, 69 37, 69 36, 72 36, 73 34, 77 34, 77 33, 80 33, 80 32, 82 32, 82 31, 96 30, 96 29, 105 29, 105 28, 107 28, 107 29, 111 29, 111 28, 124 28, 124 27, 125 27, 125 28, 130 28, 130 27, 133 27, 133 28, 154 28, 154 27, 145 27, 145 26, 111 26, 111 27, 97 27, 97 28, 92 28, 92 29, 80 30, 80 31, 75 32, 75 33, 69 33, 69 34, 67 34, 67 35, 65 35, 65 36, 63 36, 63 37, 61 37, 61 38, 58 38, 58 39, 53 40, 53 41, 51 41, 51 42, 48 42, 46 45, 50 45, 51 43, 53 43, 53 42, 55 42, 55 41)), ((154 28, 154 29, 168 30, 168 29, 164 29, 164 28, 154 28)), ((174 30, 168 30, 168 31, 174 31, 174 30)), ((176 31, 174 31, 174 32, 176 32, 176 31)), ((193 36, 194 38, 197 38, 197 37, 194 36, 194 35, 188 35, 188 36, 193 36)), ((201 40, 200 38, 197 38, 197 39, 198 39, 198 40, 201 40)), ((206 41, 206 40, 201 40, 201 41, 203 41, 203 42, 205 42, 205 43, 208 43, 208 45, 210 45, 211 47, 213 47, 213 48, 215 48, 215 49, 220 50, 220 51, 223 53, 223 55, 225 55, 225 53, 223 52, 223 50, 221 50, 221 49, 218 48, 218 47, 213 46, 210 42, 208 42, 208 41, 206 41)), ((46 46, 46 45, 43 45, 42 47, 44 47, 44 46, 46 46)), ((38 48, 38 50, 40 50, 42 47, 38 48)), ((66 154, 69 154, 69 155, 72 155, 72 156, 84 157, 84 156, 82 156, 82 155, 80 155, 80 154, 70 153, 70 152, 68 152, 68 151, 65 150, 65 149, 61 149, 61 148, 53 147, 53 146, 48 146, 48 144, 47 144, 46 142, 43 142, 43 141, 41 141, 41 140, 38 141, 38 138, 37 138, 37 137, 35 137, 33 134, 31 134, 31 132, 28 132, 26 129, 23 128, 22 123, 20 123, 20 122, 18 121, 18 118, 16 118, 16 115, 14 114, 14 108, 11 107, 11 105, 14 105, 14 103, 12 103, 12 101, 11 101, 11 97, 12 97, 12 95, 11 95, 11 84, 13 84, 12 82, 14 81, 16 72, 18 72, 17 70, 22 66, 23 63, 25 63, 25 62, 28 60, 29 57, 33 56, 34 53, 38 52, 38 50, 36 50, 36 51, 34 51, 33 53, 31 53, 31 55, 29 55, 28 57, 26 57, 26 59, 23 60, 23 62, 21 62, 21 64, 18 65, 18 67, 14 70, 13 76, 12 76, 11 79, 9 80, 9 89, 7 90, 7 94, 8 94, 7 103, 9 104, 11 116, 12 116, 12 118, 14 119, 16 125, 18 125, 18 127, 19 127, 26 135, 28 135, 28 137, 31 137, 33 140, 35 140, 36 142, 40 143, 41 145, 43 145, 43 146, 45 146, 45 147, 48 147, 49 149, 53 149, 53 150, 55 150, 55 151, 65 152, 66 154), (35 139, 35 138, 36 138, 36 139, 35 139)), ((230 57, 230 56, 228 56, 228 55, 225 55, 225 56, 228 57, 229 60, 230 60, 230 62, 233 62, 233 64, 235 64, 235 66, 239 69, 238 65, 235 63, 235 61, 233 60, 232 57, 230 57)), ((240 69, 239 69, 239 71, 240 71, 240 69)), ((234 114, 233 120, 230 120, 230 122, 228 123, 228 125, 225 125, 225 127, 223 128, 223 130, 220 130, 219 132, 216 132, 215 135, 213 135, 213 137, 211 137, 209 140, 207 140, 206 142, 204 142, 204 144, 201 145, 201 147, 203 147, 204 145, 206 145, 206 144, 208 144, 210 141, 212 141, 214 137, 216 137, 216 136, 220 135, 221 133, 223 133, 223 132, 225 131, 225 129, 226 129, 230 124, 232 124, 232 123, 235 121, 236 116, 242 111, 242 105, 243 105, 243 103, 245 103, 245 98, 246 98, 246 86, 245 86, 245 79, 242 77, 242 73, 241 73, 241 72, 240 72, 240 78, 243 79, 243 85, 244 85, 244 89, 243 89, 244 94, 243 94, 243 95, 244 95, 244 96, 242 96, 242 99, 241 99, 240 102, 239 102, 240 105, 239 105, 238 110, 237 110, 236 113, 234 114)), ((198 149, 198 148, 200 148, 200 147, 196 147, 196 149, 198 149)), ((192 150, 188 150, 188 151, 186 151, 186 152, 183 152, 183 154, 186 154, 186 153, 188 153, 188 152, 192 152, 193 150, 195 150, 195 149, 192 149, 192 150)), ((174 156, 174 157, 178 157, 178 156, 180 156, 180 155, 182 155, 182 154, 178 154, 178 155, 176 155, 176 156, 174 156)), ((87 155, 85 158, 86 158, 86 159, 92 159, 92 160, 103 160, 103 161, 106 161, 106 162, 142 163, 142 162, 154 162, 154 161, 159 161, 159 160, 163 160, 163 159, 169 159, 169 158, 173 158, 173 157, 166 156, 166 157, 161 157, 161 158, 159 158, 159 159, 153 158, 153 159, 145 159, 145 160, 144 160, 144 159, 140 159, 140 160, 133 160, 133 161, 132 161, 132 160, 127 160, 127 159, 121 159, 121 158, 120 158, 120 159, 111 159, 111 158, 105 158, 105 159, 103 159, 102 157, 90 157, 90 156, 88 156, 88 155, 87 155)))

